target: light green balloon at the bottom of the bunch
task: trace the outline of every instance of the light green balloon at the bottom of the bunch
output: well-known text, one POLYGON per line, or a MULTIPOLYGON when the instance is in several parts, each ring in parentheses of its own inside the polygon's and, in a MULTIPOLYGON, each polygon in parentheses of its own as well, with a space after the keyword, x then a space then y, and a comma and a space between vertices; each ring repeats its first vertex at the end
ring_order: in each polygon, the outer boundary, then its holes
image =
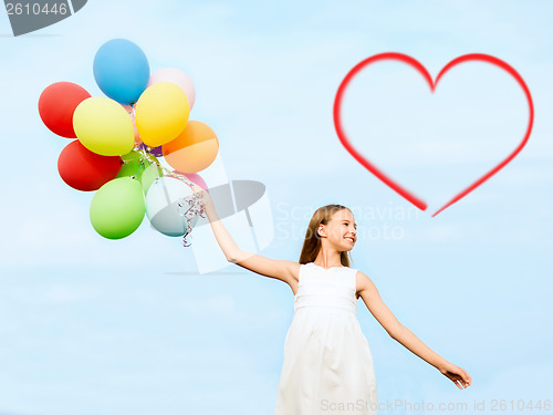
POLYGON ((138 180, 114 178, 102 186, 91 203, 91 222, 107 239, 128 237, 146 214, 144 191, 138 180))

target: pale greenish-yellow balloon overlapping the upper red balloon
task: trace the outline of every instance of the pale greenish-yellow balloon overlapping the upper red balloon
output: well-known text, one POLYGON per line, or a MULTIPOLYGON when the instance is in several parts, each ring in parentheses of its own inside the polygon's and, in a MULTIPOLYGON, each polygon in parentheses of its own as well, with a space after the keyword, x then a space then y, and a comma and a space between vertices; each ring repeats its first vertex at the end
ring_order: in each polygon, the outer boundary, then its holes
POLYGON ((119 103, 105 96, 93 96, 79 104, 73 128, 82 145, 103 156, 127 154, 134 147, 131 117, 119 103))

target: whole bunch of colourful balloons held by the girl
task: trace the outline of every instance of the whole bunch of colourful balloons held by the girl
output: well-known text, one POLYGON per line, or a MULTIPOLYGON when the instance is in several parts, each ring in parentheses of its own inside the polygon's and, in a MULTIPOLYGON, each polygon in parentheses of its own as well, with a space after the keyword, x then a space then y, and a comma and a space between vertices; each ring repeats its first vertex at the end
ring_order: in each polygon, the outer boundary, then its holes
POLYGON ((145 215, 159 232, 186 237, 202 211, 191 186, 208 190, 197 173, 211 165, 219 151, 215 132, 189 120, 196 98, 192 81, 171 68, 150 74, 145 53, 124 39, 103 44, 93 70, 106 96, 56 82, 39 98, 45 126, 76 138, 60 154, 60 176, 77 190, 97 190, 90 217, 105 238, 129 236, 145 215))

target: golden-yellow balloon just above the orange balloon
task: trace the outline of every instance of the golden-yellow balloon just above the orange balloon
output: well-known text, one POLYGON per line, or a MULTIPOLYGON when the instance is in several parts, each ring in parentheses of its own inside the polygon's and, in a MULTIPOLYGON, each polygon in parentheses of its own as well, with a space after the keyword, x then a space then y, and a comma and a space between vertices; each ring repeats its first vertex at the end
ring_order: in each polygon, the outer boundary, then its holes
POLYGON ((135 105, 136 127, 144 144, 157 147, 185 129, 190 114, 186 93, 171 82, 159 82, 143 92, 135 105))

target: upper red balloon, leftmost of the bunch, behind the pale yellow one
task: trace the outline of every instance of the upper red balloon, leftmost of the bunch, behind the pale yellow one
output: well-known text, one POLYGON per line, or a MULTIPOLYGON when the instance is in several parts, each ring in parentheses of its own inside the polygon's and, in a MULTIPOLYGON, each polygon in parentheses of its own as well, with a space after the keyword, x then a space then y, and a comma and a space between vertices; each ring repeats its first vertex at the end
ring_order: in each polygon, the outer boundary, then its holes
POLYGON ((39 114, 52 133, 66 138, 76 138, 73 129, 73 113, 77 105, 91 94, 72 82, 56 82, 48 86, 39 98, 39 114))

